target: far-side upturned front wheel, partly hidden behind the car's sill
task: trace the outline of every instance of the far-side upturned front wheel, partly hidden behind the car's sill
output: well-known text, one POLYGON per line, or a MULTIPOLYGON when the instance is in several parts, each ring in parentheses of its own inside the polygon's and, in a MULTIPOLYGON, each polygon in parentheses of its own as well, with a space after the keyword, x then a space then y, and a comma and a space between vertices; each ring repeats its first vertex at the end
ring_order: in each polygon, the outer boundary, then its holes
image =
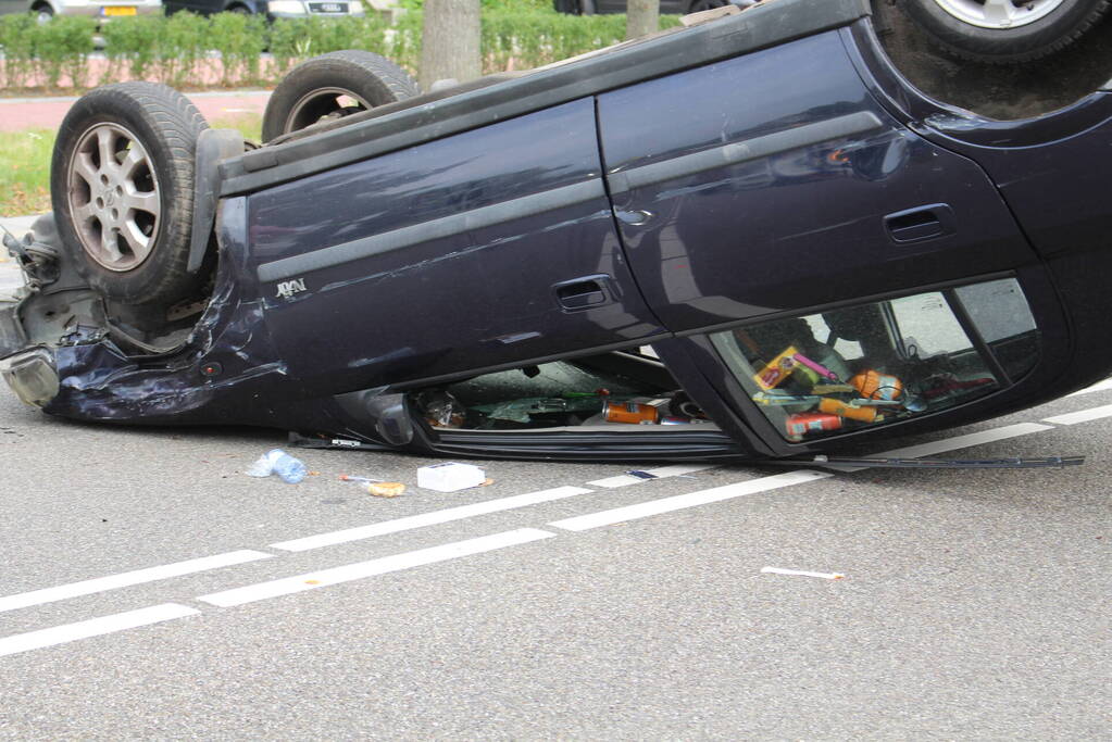
POLYGON ((369 51, 308 59, 278 83, 262 114, 262 141, 420 93, 400 67, 369 51))

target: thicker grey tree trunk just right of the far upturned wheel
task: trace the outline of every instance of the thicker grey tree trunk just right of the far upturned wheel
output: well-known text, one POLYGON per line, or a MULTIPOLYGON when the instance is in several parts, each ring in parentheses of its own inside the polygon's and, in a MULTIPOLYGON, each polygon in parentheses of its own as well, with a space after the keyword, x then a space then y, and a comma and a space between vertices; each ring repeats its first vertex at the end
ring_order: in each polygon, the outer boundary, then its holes
POLYGON ((437 80, 466 82, 481 74, 479 0, 425 0, 421 90, 428 91, 437 80))

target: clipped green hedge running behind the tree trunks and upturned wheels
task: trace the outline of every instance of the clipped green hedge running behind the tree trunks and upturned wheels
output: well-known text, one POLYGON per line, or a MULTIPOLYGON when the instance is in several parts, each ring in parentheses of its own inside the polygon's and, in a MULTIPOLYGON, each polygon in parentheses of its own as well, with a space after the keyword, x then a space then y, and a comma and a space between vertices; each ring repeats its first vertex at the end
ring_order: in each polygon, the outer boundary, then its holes
MULTIPOLYGON (((676 17, 661 19, 662 28, 677 23, 676 17)), ((123 79, 177 88, 268 86, 299 60, 338 49, 376 51, 416 73, 420 29, 420 11, 406 13, 393 27, 377 14, 272 24, 240 13, 118 18, 100 29, 107 64, 93 72, 95 19, 62 16, 39 24, 32 16, 0 16, 0 88, 80 90, 123 79)), ((625 16, 495 7, 483 14, 484 72, 539 67, 617 43, 624 36, 625 16)))

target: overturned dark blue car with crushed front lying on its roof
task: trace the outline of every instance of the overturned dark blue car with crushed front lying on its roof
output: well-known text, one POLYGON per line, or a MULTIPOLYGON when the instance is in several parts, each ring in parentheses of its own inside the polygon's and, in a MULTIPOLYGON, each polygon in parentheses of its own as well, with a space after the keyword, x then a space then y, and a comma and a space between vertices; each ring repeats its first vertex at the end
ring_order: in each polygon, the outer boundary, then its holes
POLYGON ((946 106, 863 0, 693 20, 425 94, 326 56, 261 147, 92 91, 7 241, 0 372, 77 420, 594 460, 860 451, 1108 375, 1112 92, 946 106))

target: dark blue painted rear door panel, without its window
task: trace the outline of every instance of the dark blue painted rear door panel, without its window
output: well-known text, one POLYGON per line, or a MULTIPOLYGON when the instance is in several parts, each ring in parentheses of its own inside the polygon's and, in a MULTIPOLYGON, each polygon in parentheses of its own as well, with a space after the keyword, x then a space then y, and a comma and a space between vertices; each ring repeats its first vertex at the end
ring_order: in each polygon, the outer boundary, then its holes
POLYGON ((981 168, 890 117, 837 32, 598 107, 622 238, 669 330, 1036 260, 981 168))

